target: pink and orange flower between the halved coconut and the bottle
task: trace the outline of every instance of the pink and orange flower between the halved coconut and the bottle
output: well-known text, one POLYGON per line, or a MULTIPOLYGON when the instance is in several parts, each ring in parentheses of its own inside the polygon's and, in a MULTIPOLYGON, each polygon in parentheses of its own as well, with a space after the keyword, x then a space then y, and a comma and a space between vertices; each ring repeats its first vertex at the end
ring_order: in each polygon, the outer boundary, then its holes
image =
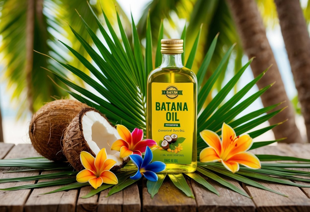
POLYGON ((120 152, 120 158, 126 158, 129 155, 137 154, 142 156, 146 147, 156 147, 157 143, 152 139, 143 139, 143 130, 135 128, 131 133, 124 125, 116 125, 118 134, 122 139, 116 140, 111 150, 120 152))

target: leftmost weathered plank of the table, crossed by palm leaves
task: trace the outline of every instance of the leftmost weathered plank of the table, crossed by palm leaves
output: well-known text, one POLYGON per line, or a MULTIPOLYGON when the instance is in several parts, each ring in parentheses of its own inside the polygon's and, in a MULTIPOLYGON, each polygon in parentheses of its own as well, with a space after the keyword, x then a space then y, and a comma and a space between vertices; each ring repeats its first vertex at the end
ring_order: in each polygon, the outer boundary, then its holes
MULTIPOLYGON (((37 156, 39 155, 36 151, 34 151, 31 144, 19 144, 11 149, 11 151, 5 156, 5 159, 37 157, 37 156)), ((18 170, 18 169, 20 168, 0 167, 0 178, 32 176, 39 174, 38 171, 4 173, 9 170, 18 170)), ((35 181, 2 183, 0 184, 0 188, 8 188, 12 186, 20 186, 34 183, 35 181)), ((17 191, 0 191, 0 211, 22 212, 24 208, 24 203, 26 202, 30 192, 31 192, 30 189, 17 190, 17 191)))

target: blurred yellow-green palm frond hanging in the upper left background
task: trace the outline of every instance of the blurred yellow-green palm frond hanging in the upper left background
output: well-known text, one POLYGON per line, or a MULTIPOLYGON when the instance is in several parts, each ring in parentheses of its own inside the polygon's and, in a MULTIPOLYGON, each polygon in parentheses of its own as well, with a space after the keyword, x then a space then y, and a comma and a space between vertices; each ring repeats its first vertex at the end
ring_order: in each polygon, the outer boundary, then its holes
MULTIPOLYGON (((107 0, 102 3, 104 10, 108 12, 107 16, 113 23, 117 23, 116 14, 112 15, 111 12, 114 11, 117 2, 107 0)), ((101 14, 100 1, 93 6, 94 10, 101 14)), ((2 80, 7 81, 8 90, 12 94, 11 99, 18 104, 17 118, 25 117, 29 111, 35 112, 44 103, 54 98, 68 96, 68 93, 52 83, 50 78, 57 84, 60 81, 53 74, 42 72, 40 67, 53 69, 63 76, 70 72, 60 71, 62 66, 48 57, 33 52, 33 49, 44 54, 48 53, 61 62, 73 62, 80 70, 88 71, 76 57, 73 57, 73 54, 68 54, 68 49, 57 41, 58 39, 70 40, 69 46, 90 59, 78 39, 72 33, 68 33, 71 30, 66 21, 72 24, 87 43, 91 42, 91 36, 84 30, 74 8, 85 17, 92 30, 95 31, 98 28, 86 1, 0 0, 0 35, 2 36, 0 51, 4 66, 2 80)), ((124 14, 121 9, 119 11, 124 14)), ((129 23, 126 16, 123 17, 123 23, 129 23)), ((69 77, 72 78, 72 75, 69 77)), ((79 79, 74 78, 74 81, 79 81, 78 84, 82 85, 82 80, 79 79)))

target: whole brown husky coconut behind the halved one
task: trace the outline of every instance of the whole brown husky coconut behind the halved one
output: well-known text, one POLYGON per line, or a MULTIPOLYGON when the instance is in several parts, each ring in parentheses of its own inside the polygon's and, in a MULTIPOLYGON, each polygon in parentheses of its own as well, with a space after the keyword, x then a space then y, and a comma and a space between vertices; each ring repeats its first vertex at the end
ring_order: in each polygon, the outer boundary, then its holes
POLYGON ((34 149, 47 159, 65 161, 61 146, 64 130, 84 107, 88 106, 76 100, 55 100, 43 105, 29 125, 34 149))

